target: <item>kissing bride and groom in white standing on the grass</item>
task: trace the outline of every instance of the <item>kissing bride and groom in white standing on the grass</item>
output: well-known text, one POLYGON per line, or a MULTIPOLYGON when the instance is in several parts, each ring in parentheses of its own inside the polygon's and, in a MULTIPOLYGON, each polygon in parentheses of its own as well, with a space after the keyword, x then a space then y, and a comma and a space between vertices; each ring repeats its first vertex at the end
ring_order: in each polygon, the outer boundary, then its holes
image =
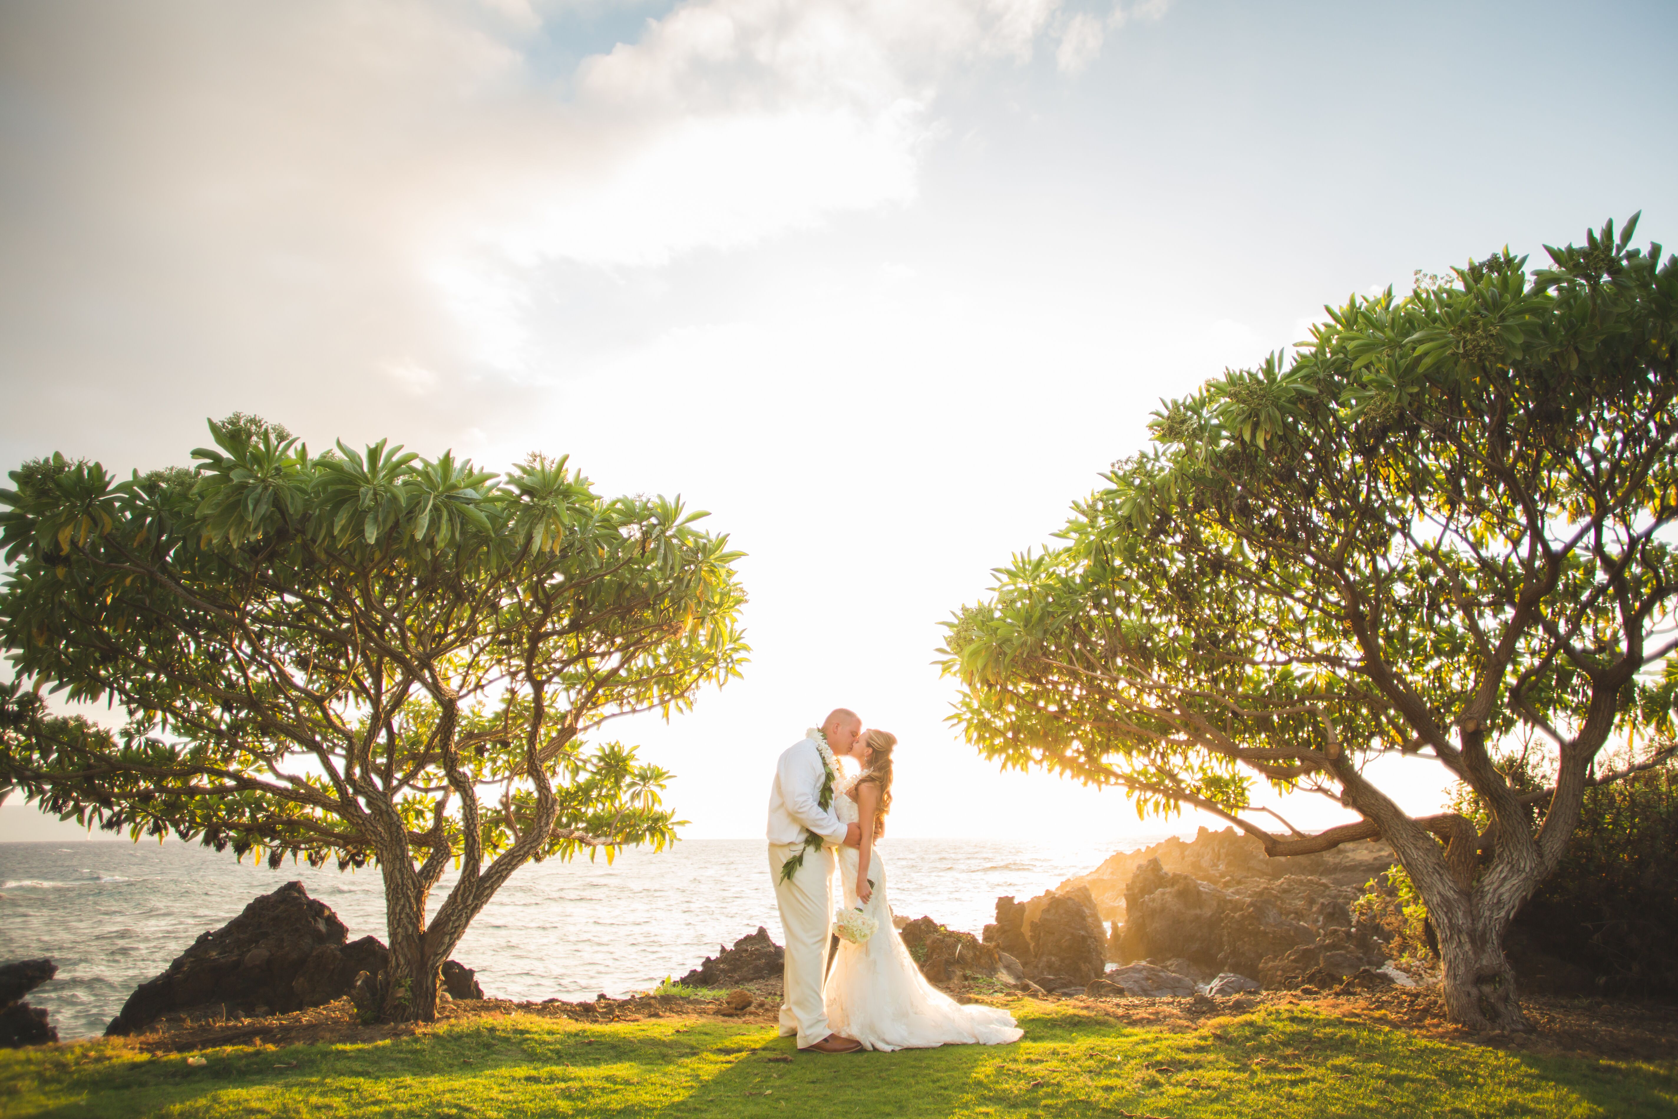
POLYGON ((1007 1012, 963 1007, 928 983, 891 923, 886 861, 876 841, 891 812, 896 745, 894 735, 864 731, 856 713, 839 708, 775 765, 769 872, 787 939, 780 1035, 795 1033, 804 1054, 1005 1045, 1024 1035, 1007 1012), (842 757, 861 772, 841 777, 842 757), (836 862, 842 939, 829 973, 836 862))

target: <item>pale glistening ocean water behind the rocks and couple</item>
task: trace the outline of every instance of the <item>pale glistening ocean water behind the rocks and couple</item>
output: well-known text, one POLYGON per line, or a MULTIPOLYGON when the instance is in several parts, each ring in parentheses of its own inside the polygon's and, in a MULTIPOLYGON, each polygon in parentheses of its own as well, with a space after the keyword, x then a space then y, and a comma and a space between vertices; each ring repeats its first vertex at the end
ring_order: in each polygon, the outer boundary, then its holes
MULTIPOLYGON (((978 933, 1002 894, 1029 898, 1094 869, 1116 844, 893 839, 891 908, 978 933)), ((0 844, 0 963, 50 956, 59 975, 29 998, 64 1038, 102 1033, 128 995, 205 929, 257 894, 300 879, 349 926, 384 929, 376 867, 356 872, 240 864, 205 847, 146 841, 0 844)), ((433 891, 441 903, 451 876, 433 891)), ((765 926, 782 943, 763 842, 693 839, 663 852, 626 851, 520 867, 478 914, 455 958, 500 998, 621 997, 681 976, 718 945, 765 926)))

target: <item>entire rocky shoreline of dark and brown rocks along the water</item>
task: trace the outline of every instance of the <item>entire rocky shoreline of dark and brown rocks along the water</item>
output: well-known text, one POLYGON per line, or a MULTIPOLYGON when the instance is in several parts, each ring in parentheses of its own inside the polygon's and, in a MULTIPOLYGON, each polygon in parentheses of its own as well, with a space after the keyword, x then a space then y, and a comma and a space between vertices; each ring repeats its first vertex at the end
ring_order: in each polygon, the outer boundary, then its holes
MULTIPOLYGON (((1394 966, 1388 933, 1359 921, 1352 906, 1393 861, 1379 841, 1270 859, 1233 829, 1200 829, 1191 841, 1173 837, 1114 854, 1035 898, 998 898, 997 919, 978 936, 931 916, 899 914, 894 924, 923 975, 960 997, 1198 1003, 1260 991, 1403 988, 1428 976, 1394 966)), ((331 908, 309 898, 300 882, 287 882, 223 928, 200 934, 161 975, 141 983, 106 1033, 166 1033, 205 1022, 248 1030, 238 1023, 351 1005, 357 990, 376 988, 388 955, 378 938, 349 941, 331 908)), ((732 991, 732 1003, 718 1013, 760 1012, 763 1000, 779 1000, 782 961, 782 948, 758 928, 733 946, 718 946, 675 986, 732 991)), ((1517 971, 1525 981, 1529 973, 1544 978, 1559 968, 1566 965, 1540 960, 1517 971)), ((57 1040, 45 1012, 22 1002, 54 970, 45 960, 0 968, 0 1045, 57 1040), (17 981, 8 985, 7 976, 17 981)), ((1569 993, 1542 983, 1539 991, 1569 993)), ((450 960, 441 998, 480 1002, 485 995, 473 971, 450 960)), ((612 1003, 606 995, 601 1000, 612 1003)))

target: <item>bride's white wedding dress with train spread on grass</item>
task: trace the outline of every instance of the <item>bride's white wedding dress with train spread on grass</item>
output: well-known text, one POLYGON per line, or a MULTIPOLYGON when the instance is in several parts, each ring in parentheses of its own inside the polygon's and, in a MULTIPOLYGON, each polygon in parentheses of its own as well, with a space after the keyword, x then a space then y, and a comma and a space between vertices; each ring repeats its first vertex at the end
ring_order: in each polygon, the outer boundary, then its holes
MULTIPOLYGON (((857 822, 856 800, 839 794, 834 812, 844 824, 857 822)), ((839 881, 844 906, 856 906, 854 847, 839 849, 839 881)), ((878 926, 861 945, 839 941, 839 955, 827 975, 824 997, 827 1025, 834 1033, 854 1037, 868 1049, 933 1049, 936 1045, 1005 1045, 1025 1035, 1014 1017, 995 1007, 963 1007, 926 981, 915 958, 891 924, 886 904, 886 859, 879 842, 869 856, 868 876, 874 893, 862 906, 878 926)))

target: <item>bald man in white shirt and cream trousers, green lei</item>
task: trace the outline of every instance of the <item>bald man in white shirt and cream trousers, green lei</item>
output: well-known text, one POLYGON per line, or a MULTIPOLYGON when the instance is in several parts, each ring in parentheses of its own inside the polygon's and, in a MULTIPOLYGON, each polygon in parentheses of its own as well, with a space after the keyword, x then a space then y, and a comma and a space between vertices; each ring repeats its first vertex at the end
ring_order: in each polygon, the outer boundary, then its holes
MULTIPOLYGON (((827 748, 849 753, 862 733, 862 720, 854 711, 836 710, 821 726, 827 748)), ((837 773, 834 775, 837 778, 837 773)), ((794 743, 775 763, 775 783, 769 790, 769 872, 780 906, 780 928, 787 936, 787 960, 782 971, 780 1035, 799 1035, 799 1052, 854 1054, 862 1044, 832 1033, 822 1005, 822 976, 827 973, 827 938, 832 924, 831 881, 834 846, 856 847, 861 829, 841 824, 832 800, 822 805, 827 767, 821 745, 812 736, 794 743), (807 832, 826 842, 805 847, 807 832), (784 877, 782 867, 802 854, 802 866, 784 877)), ((832 794, 837 795, 837 794, 832 794)))

